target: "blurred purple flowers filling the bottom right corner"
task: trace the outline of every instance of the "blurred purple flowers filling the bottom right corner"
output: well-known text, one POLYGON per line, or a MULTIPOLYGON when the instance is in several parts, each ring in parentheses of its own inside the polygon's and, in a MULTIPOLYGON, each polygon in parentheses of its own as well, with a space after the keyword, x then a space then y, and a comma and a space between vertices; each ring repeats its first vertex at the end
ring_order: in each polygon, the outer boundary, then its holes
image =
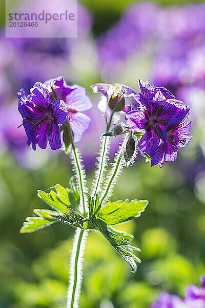
POLYGON ((177 295, 162 292, 151 308, 204 308, 205 307, 205 275, 201 277, 201 287, 194 284, 187 286, 185 299, 177 295))

